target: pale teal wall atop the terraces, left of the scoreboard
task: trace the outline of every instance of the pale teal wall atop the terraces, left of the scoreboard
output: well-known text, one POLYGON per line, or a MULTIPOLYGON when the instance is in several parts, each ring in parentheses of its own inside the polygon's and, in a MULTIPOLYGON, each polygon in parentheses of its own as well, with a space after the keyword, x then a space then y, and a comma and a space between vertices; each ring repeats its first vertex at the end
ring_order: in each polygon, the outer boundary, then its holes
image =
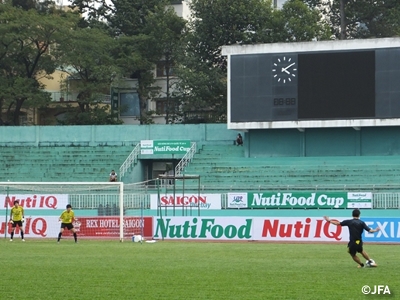
POLYGON ((190 140, 201 145, 233 143, 226 124, 0 126, 0 146, 119 146, 141 140, 190 140))

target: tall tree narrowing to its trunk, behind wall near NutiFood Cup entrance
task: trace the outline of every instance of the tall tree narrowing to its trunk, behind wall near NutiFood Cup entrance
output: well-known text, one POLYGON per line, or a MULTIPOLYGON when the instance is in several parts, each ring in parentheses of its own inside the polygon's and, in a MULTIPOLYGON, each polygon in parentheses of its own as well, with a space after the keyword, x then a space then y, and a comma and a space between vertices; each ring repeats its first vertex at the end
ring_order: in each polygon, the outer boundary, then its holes
POLYGON ((176 32, 176 26, 180 22, 176 14, 166 10, 169 1, 75 0, 73 5, 82 13, 88 14, 89 22, 104 20, 110 34, 118 38, 119 51, 114 53, 116 61, 126 77, 137 79, 140 122, 151 122, 146 112, 147 102, 158 93, 152 88, 153 70, 155 64, 165 55, 167 41, 164 38, 171 38, 168 34, 160 35, 157 28, 166 26, 165 32, 176 32), (157 22, 160 24, 157 25, 157 22))

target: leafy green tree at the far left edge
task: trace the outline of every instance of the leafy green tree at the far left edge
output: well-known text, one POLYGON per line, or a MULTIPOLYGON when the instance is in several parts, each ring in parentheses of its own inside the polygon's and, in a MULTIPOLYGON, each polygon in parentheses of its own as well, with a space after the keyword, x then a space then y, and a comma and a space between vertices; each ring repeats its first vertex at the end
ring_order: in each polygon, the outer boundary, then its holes
POLYGON ((52 48, 76 22, 72 14, 41 14, 9 4, 0 5, 0 110, 7 110, 0 123, 19 125, 21 109, 45 106, 49 95, 39 83, 54 72, 60 51, 52 48))

